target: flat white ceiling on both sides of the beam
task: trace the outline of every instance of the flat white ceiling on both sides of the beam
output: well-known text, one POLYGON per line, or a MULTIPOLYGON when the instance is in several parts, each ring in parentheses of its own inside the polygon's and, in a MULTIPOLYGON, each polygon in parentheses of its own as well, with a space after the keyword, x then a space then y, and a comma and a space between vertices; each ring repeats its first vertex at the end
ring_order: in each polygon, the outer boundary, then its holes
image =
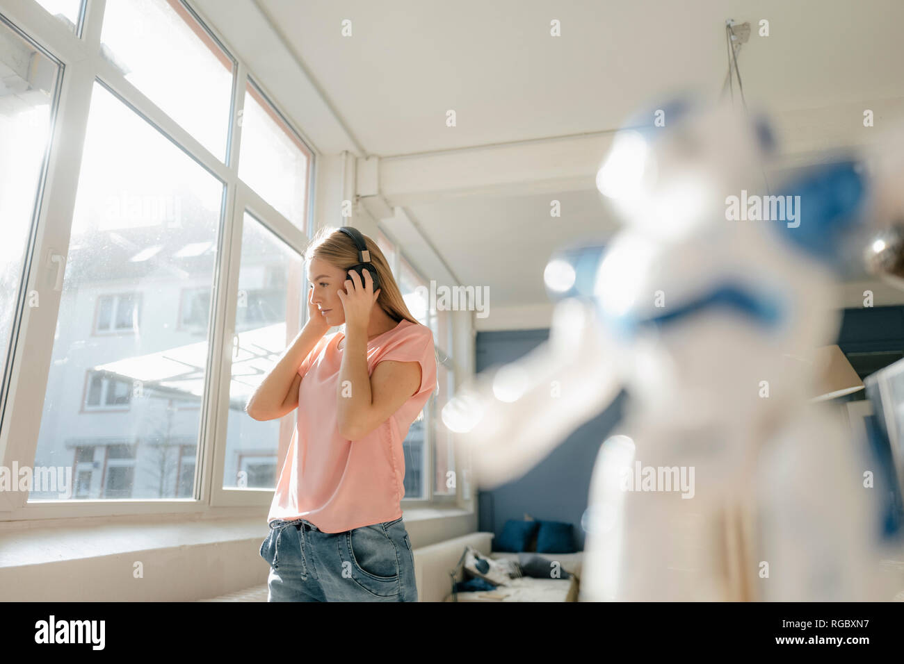
MULTIPOLYGON (((673 92, 716 94, 729 18, 753 26, 739 56, 751 105, 782 113, 904 98, 900 0, 254 1, 363 156, 606 132, 673 92)), ((490 286, 495 306, 546 303, 551 251, 616 228, 590 188, 486 192, 408 211, 461 283, 490 286), (561 218, 550 217, 552 199, 561 218)))

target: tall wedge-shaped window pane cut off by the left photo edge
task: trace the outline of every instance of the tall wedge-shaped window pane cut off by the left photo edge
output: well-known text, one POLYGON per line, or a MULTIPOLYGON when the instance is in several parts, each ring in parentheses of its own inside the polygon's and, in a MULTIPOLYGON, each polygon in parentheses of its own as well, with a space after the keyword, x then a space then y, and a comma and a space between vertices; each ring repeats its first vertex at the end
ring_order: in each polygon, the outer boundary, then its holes
POLYGON ((0 367, 22 286, 59 68, 0 23, 0 367))

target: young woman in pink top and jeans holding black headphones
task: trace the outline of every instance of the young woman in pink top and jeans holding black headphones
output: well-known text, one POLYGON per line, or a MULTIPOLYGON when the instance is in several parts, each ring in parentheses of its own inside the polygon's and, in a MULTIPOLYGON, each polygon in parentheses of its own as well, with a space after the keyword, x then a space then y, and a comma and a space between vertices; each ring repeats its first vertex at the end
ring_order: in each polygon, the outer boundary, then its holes
POLYGON ((371 238, 322 229, 305 260, 308 321, 247 407, 257 420, 298 407, 260 547, 268 601, 416 602, 402 441, 436 388, 433 334, 371 238), (351 269, 368 258, 375 290, 351 269))

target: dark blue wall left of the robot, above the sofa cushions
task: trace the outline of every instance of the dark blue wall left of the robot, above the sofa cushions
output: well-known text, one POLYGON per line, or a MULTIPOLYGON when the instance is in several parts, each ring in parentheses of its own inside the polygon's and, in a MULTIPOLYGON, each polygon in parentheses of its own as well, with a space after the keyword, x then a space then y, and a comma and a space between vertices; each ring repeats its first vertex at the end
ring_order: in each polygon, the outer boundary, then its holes
MULTIPOLYGON (((548 338, 549 330, 477 332, 476 370, 517 360, 548 338)), ((576 550, 582 551, 580 519, 587 510, 590 473, 599 446, 621 419, 624 398, 619 395, 607 410, 580 426, 523 477, 493 491, 478 491, 479 528, 498 538, 507 519, 520 520, 525 513, 533 519, 566 521, 574 527, 576 550)))

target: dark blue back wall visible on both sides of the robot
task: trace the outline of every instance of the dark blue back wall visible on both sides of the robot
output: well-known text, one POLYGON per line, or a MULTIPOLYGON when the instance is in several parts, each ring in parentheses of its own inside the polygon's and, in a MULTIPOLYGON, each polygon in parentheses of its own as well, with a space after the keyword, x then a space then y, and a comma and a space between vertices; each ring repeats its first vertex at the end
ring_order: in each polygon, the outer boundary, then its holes
MULTIPOLYGON (((549 337, 549 330, 477 332, 476 370, 517 360, 549 337)), ((904 306, 846 309, 838 345, 862 377, 904 357, 904 306)), ((863 397, 862 391, 852 397, 863 397)), ((566 521, 574 526, 575 547, 584 548, 580 519, 587 509, 590 474, 599 446, 621 419, 626 395, 580 426, 523 477, 478 491, 479 528, 498 538, 508 519, 566 521)))

